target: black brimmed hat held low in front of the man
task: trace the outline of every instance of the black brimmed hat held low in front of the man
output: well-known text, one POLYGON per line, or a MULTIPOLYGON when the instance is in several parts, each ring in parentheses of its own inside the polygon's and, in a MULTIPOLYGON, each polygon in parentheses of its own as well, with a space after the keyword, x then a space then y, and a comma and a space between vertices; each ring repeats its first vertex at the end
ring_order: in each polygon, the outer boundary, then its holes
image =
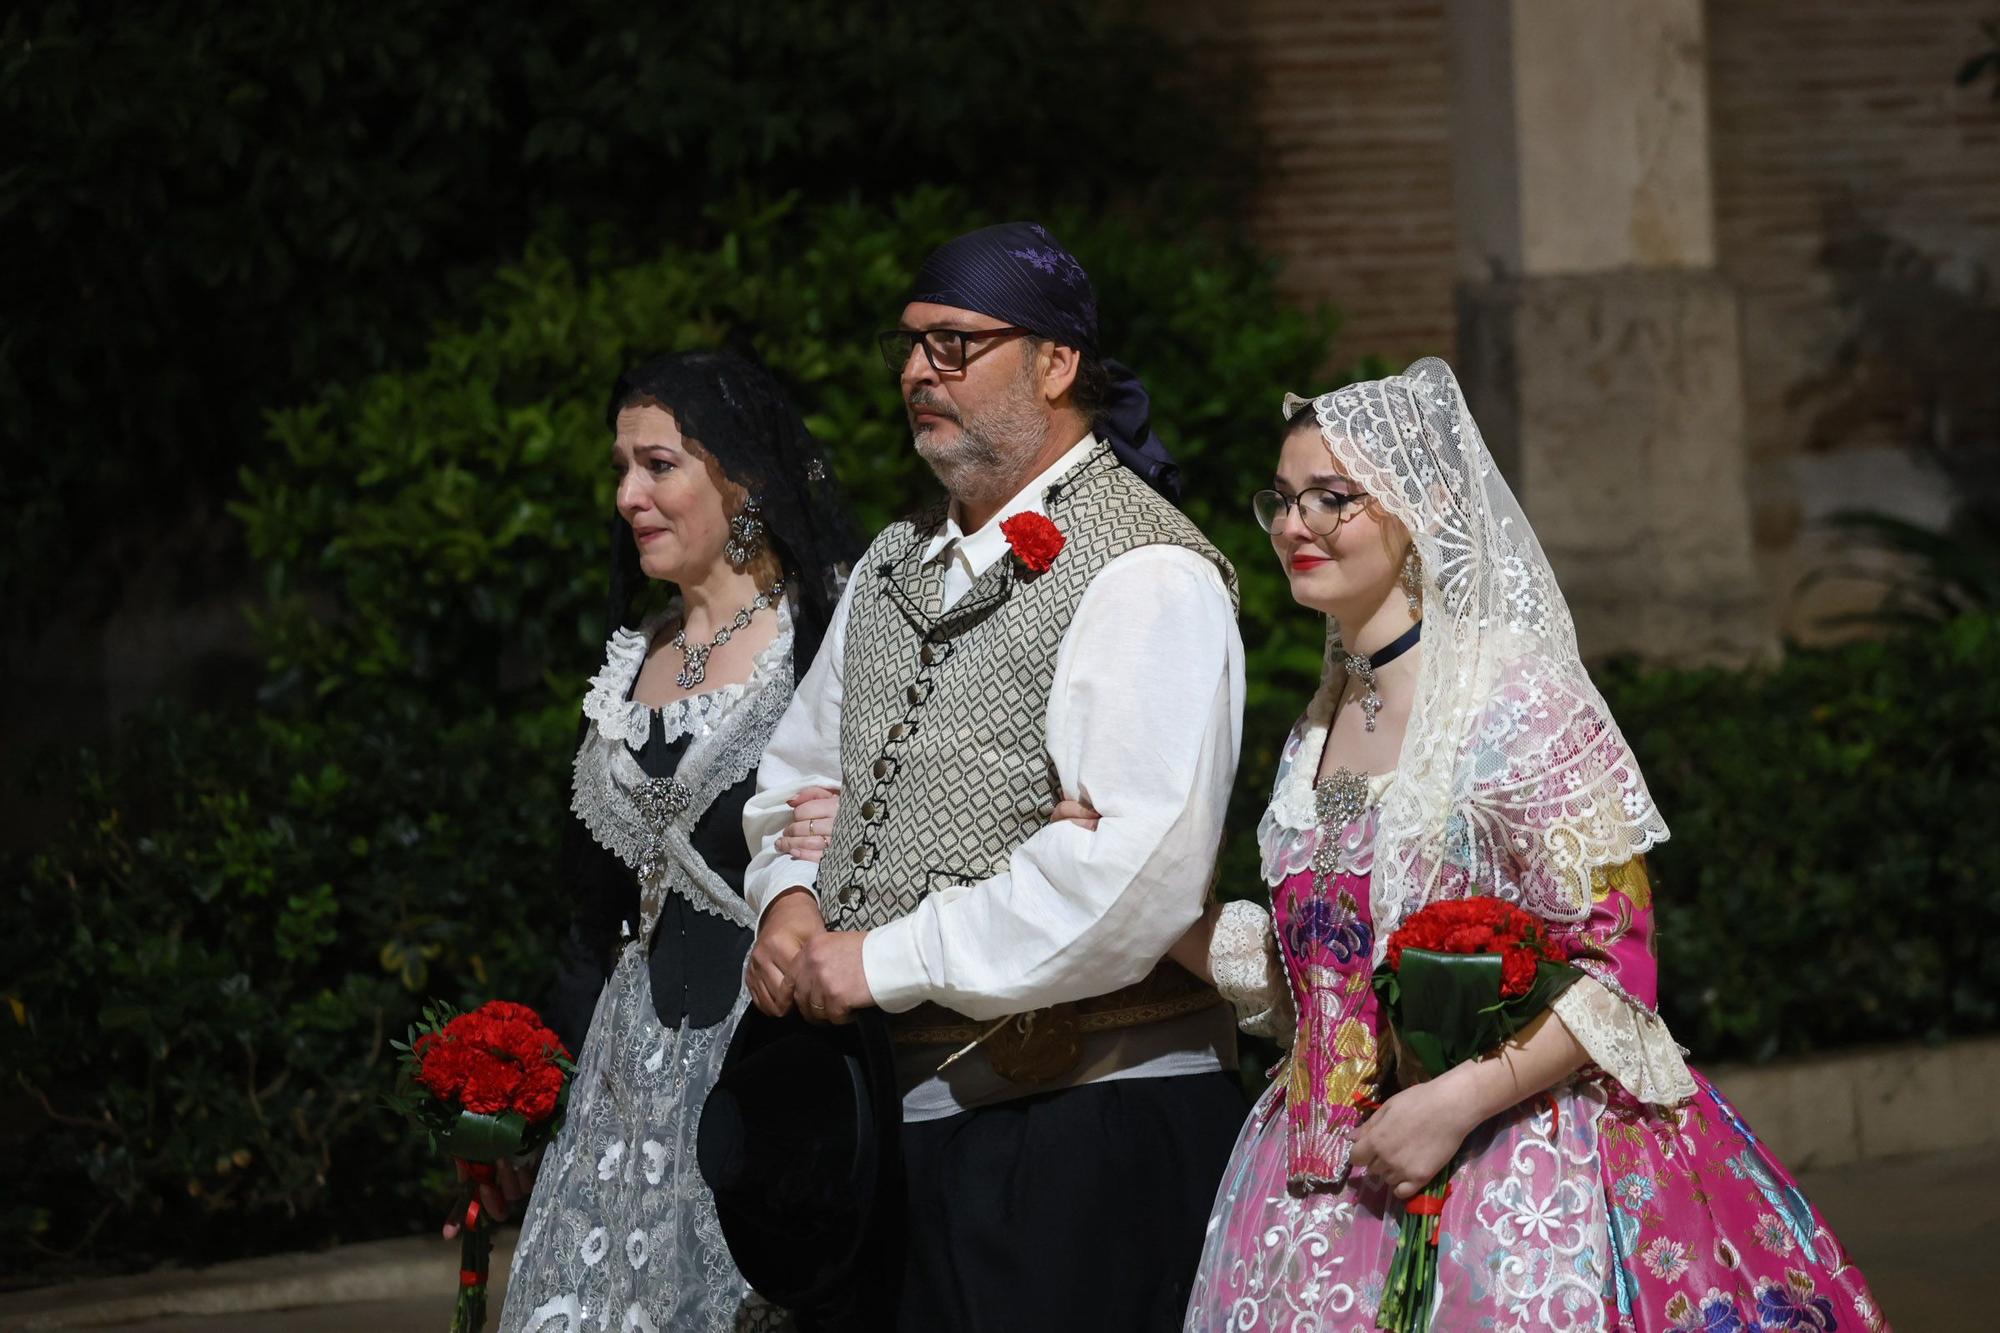
POLYGON ((744 1279, 814 1329, 894 1325, 902 1099, 880 1009, 818 1027, 750 1007, 702 1109, 696 1161, 744 1279))

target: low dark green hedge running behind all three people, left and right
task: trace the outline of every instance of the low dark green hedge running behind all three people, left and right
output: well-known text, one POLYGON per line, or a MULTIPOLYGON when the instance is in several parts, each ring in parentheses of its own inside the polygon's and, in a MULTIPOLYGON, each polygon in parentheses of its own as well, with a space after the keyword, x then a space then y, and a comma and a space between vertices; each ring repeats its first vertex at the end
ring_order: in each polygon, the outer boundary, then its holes
MULTIPOLYGON (((1662 995, 1698 1061, 1994 1029, 2000 622, 1606 687, 1674 827, 1662 995)), ((0 895, 10 1269, 436 1221, 436 1165, 374 1103, 386 1039, 422 995, 546 983, 550 719, 156 717, 82 765, 0 895)), ((1254 727, 1236 891, 1278 735, 1254 727)))

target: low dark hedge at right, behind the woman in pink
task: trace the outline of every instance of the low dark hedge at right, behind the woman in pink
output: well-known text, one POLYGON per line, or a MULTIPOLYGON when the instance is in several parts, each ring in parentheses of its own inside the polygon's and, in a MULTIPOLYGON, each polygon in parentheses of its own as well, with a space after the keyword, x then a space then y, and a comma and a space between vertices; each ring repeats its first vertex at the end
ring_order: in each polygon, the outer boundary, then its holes
POLYGON ((1674 835, 1660 1005, 1698 1059, 2000 1023, 2000 620, 1604 687, 1674 835))

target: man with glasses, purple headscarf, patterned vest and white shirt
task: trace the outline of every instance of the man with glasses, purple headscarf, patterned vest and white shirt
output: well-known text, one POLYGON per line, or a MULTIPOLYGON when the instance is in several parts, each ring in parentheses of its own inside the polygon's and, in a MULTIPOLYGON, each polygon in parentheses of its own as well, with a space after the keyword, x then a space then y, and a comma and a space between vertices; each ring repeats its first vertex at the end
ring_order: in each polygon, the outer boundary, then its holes
POLYGON ((1232 1011, 1166 959, 1236 771, 1236 578, 1042 226, 944 244, 882 344, 950 502, 862 556, 764 755, 750 993, 888 1013, 898 1327, 1178 1329, 1244 1117, 1232 1011), (812 785, 818 865, 776 847, 812 785))

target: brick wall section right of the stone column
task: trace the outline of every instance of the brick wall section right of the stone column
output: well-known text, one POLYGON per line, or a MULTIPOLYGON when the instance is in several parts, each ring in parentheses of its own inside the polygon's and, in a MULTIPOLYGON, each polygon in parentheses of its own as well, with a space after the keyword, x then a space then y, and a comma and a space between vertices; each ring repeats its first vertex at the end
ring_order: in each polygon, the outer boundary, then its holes
POLYGON ((1826 556, 1828 506, 1936 516, 1910 442, 2000 438, 2000 104, 1952 86, 1994 16, 1992 0, 1708 4, 1716 236, 1780 608, 1826 556))

